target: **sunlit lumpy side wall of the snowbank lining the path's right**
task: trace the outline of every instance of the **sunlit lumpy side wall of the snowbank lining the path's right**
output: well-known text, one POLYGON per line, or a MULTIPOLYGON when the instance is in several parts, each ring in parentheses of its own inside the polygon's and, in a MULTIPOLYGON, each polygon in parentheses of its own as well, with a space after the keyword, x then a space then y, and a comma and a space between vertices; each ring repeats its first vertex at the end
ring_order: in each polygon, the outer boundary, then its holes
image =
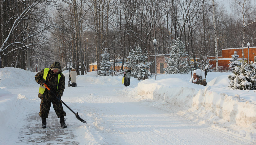
POLYGON ((256 122, 256 104, 240 98, 239 95, 229 96, 213 91, 209 86, 202 89, 193 88, 191 85, 175 87, 175 82, 179 81, 177 78, 165 81, 174 83, 167 85, 163 80, 161 82, 152 79, 144 80, 138 83, 138 94, 148 99, 180 106, 202 118, 208 118, 208 112, 212 112, 219 118, 235 122, 236 125, 242 127, 253 126, 256 122))

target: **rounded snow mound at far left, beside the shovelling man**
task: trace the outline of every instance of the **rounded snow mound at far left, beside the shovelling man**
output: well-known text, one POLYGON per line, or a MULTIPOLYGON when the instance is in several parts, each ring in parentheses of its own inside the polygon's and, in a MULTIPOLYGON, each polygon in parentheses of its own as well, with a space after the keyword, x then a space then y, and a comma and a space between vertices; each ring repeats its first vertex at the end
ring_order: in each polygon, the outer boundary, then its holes
POLYGON ((1 69, 0 87, 30 87, 37 85, 35 72, 24 71, 13 67, 1 69))

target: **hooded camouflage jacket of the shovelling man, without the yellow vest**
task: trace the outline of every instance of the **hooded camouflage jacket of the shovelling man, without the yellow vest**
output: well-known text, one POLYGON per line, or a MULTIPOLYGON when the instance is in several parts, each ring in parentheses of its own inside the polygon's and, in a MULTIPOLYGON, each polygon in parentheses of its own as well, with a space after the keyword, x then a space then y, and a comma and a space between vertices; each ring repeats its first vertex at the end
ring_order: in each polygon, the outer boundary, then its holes
MULTIPOLYGON (((40 72, 38 72, 35 75, 35 80, 38 84, 42 85, 42 83, 45 81, 47 86, 53 91, 56 92, 56 95, 58 97, 61 97, 64 89, 65 89, 65 76, 63 74, 61 74, 61 66, 59 62, 54 62, 50 69, 49 72, 47 74, 46 80, 43 79, 44 76, 44 69, 41 70, 40 72), (52 72, 52 69, 58 68, 59 71, 56 73, 52 72), (60 79, 59 79, 59 87, 57 90, 57 85, 58 85, 58 74, 61 75, 60 79)), ((38 97, 40 99, 46 99, 46 100, 50 100, 52 98, 55 98, 55 96, 53 94, 51 94, 47 89, 45 89, 44 94, 40 94, 38 93, 38 97)))

